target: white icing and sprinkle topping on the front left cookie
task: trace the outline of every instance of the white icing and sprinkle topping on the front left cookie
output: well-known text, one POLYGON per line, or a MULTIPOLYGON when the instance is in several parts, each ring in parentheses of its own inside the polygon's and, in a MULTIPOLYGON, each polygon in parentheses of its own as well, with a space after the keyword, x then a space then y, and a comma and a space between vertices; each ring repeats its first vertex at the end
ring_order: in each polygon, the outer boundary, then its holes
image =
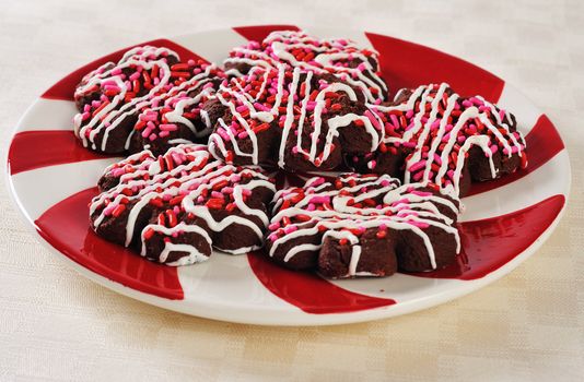
MULTIPOLYGON (((180 235, 184 231, 198 232, 211 246, 210 231, 220 234, 231 225, 242 225, 256 234, 258 242, 261 242, 264 230, 269 223, 268 216, 264 211, 247 205, 246 198, 259 188, 276 192, 273 183, 266 175, 250 168, 238 169, 213 160, 206 146, 196 144, 180 144, 170 148, 164 156, 157 158, 150 151, 143 151, 107 167, 105 174, 118 178, 119 183, 92 200, 90 216, 93 217, 93 228, 98 230, 105 219, 112 218, 112 215, 116 216, 118 206, 131 205, 126 217, 126 247, 133 241, 135 226, 140 212, 152 202, 161 201, 160 206, 167 208, 166 213, 172 211, 171 214, 175 219, 177 219, 177 214, 191 213, 192 217, 205 220, 209 228, 209 232, 203 235, 201 231, 205 230, 200 227, 185 229, 185 227, 195 226, 184 222, 179 224, 176 222, 171 227, 161 222, 151 223, 141 231, 142 254, 145 254, 144 241, 148 228, 167 237, 180 235), (241 183, 242 178, 249 178, 249 180, 241 183), (175 196, 182 196, 182 200, 173 206, 168 201, 175 196), (223 202, 221 202, 222 198, 223 202), (209 203, 213 201, 220 201, 220 205, 210 205, 209 203), (233 205, 233 212, 215 220, 210 208, 227 208, 229 204, 233 205), (249 218, 252 216, 257 217, 260 224, 253 222, 249 218)), ((121 207, 120 213, 125 210, 126 207, 121 207)), ((187 259, 178 261, 180 264, 201 261, 203 254, 195 248, 186 250, 185 246, 187 244, 178 246, 167 242, 164 251, 159 255, 159 261, 164 262, 173 251, 187 253, 187 259)), ((246 249, 248 248, 226 251, 245 253, 246 249)))

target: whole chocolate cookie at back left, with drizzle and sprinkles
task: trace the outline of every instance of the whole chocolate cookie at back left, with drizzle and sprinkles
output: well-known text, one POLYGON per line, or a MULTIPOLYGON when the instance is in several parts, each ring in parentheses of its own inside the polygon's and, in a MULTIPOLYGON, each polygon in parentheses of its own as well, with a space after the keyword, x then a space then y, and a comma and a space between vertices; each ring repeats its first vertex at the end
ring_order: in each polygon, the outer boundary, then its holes
POLYGON ((162 154, 207 138, 211 126, 200 106, 223 76, 214 64, 182 62, 166 48, 133 48, 78 85, 74 133, 85 147, 104 153, 162 154))

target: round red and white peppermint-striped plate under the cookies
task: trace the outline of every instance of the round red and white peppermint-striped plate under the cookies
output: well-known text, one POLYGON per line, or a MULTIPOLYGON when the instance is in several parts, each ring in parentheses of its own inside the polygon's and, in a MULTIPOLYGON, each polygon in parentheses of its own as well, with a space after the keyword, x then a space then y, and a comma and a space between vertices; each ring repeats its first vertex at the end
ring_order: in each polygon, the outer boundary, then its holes
MULTIPOLYGON (((247 26, 142 43, 182 58, 220 62, 234 46, 291 25, 247 26)), ((317 325, 404 314, 476 290, 511 272, 551 235, 570 188, 570 163, 551 121, 495 75, 443 52, 372 33, 306 28, 319 37, 348 37, 381 52, 390 88, 448 82, 515 114, 526 135, 529 165, 503 179, 474 186, 464 199, 458 264, 381 279, 325 280, 279 268, 256 254, 215 253, 194 266, 149 262, 93 234, 87 202, 103 169, 118 158, 91 153, 73 138, 73 87, 83 73, 121 57, 121 49, 80 68, 40 96, 22 117, 9 151, 9 183, 42 242, 81 274, 139 300, 211 319, 317 325)), ((141 44, 141 45, 142 45, 141 44)))

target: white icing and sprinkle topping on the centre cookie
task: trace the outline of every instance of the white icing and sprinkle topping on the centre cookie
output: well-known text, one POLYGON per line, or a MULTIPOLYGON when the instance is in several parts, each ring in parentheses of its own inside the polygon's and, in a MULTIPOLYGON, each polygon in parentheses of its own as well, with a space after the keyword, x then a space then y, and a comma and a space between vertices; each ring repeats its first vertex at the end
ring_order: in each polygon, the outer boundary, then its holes
MULTIPOLYGON (((354 122, 360 122, 364 131, 371 138, 371 151, 374 151, 384 136, 383 122, 375 111, 376 105, 364 103, 364 115, 357 115, 349 112, 346 115, 336 115, 326 121, 326 134, 323 132, 323 114, 326 111, 326 96, 327 94, 343 93, 353 103, 358 102, 355 91, 346 83, 322 82, 320 88, 313 89, 311 81, 313 80, 313 72, 302 72, 300 68, 292 70, 290 79, 284 76, 285 67, 278 64, 278 69, 270 69, 266 71, 262 68, 254 68, 249 73, 242 79, 234 79, 227 84, 222 84, 218 91, 217 98, 230 110, 233 116, 231 123, 227 123, 223 118, 219 119, 219 128, 211 134, 209 139, 209 150, 213 156, 231 162, 230 151, 232 155, 249 158, 254 165, 260 165, 258 157, 258 139, 257 124, 256 128, 250 126, 252 122, 265 122, 271 124, 269 129, 280 129, 273 127, 273 120, 277 119, 281 126, 281 138, 278 148, 278 166, 285 168, 285 147, 289 140, 295 140, 294 154, 303 155, 306 160, 314 166, 319 167, 325 160, 330 157, 334 150, 334 140, 339 136, 339 129, 349 127, 354 122), (301 74, 305 74, 302 77, 301 74), (243 81, 243 84, 241 83, 243 81), (257 81, 261 82, 257 95, 249 99, 250 83, 257 81), (267 83, 270 83, 268 86, 267 83), (245 86, 244 86, 245 85, 245 86), (304 95, 300 100, 299 89, 304 86, 304 95), (273 98, 273 105, 269 102, 256 102, 260 94, 269 92, 273 98), (314 96, 316 92, 316 96, 314 96), (311 98, 312 97, 312 98, 311 98), (300 105, 299 105, 300 104, 300 105), (262 107, 266 110, 258 112, 257 108, 262 107), (299 111, 300 108, 300 111, 299 111), (283 110, 282 110, 283 109, 283 110), (284 111, 285 110, 285 111, 284 111), (369 114, 369 116, 367 116, 369 114), (235 126, 234 126, 235 123, 235 126), (307 148, 303 145, 303 131, 306 124, 311 123, 313 127, 311 139, 307 148), (295 135, 295 138, 292 135, 295 135), (252 143, 250 152, 244 152, 241 148, 241 140, 249 140, 252 143), (324 144, 322 141, 324 140, 324 144), (225 144, 229 142, 230 145, 225 144), (322 144, 322 148, 319 148, 322 144)), ((324 80, 320 80, 324 81, 324 80)))

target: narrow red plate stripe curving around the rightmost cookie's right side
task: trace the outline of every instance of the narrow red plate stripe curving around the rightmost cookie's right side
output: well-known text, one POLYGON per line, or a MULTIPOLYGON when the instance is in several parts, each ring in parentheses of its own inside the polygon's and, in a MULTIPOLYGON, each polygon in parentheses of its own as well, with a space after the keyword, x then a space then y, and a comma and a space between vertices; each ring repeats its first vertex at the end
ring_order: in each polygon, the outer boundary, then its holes
POLYGON ((467 196, 487 192, 514 182, 544 166, 553 158, 556 154, 564 148, 558 130, 556 130, 553 123, 551 123, 546 115, 539 117, 532 131, 525 136, 525 141, 527 143, 527 168, 519 169, 513 174, 491 181, 472 183, 467 196))

